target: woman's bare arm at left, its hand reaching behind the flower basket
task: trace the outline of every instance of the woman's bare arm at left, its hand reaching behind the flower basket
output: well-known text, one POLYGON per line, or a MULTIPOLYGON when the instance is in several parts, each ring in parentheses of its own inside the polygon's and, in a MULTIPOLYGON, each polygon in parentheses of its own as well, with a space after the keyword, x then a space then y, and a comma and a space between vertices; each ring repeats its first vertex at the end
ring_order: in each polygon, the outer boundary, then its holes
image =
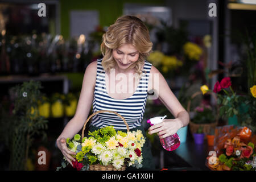
POLYGON ((64 130, 56 140, 57 146, 71 165, 71 160, 75 161, 75 159, 71 155, 75 155, 75 152, 68 150, 66 139, 73 138, 75 134, 79 133, 82 126, 84 126, 86 118, 88 117, 88 114, 92 107, 93 92, 96 84, 96 75, 97 61, 93 61, 93 63, 90 63, 88 65, 84 74, 76 113, 74 117, 67 123, 64 130))

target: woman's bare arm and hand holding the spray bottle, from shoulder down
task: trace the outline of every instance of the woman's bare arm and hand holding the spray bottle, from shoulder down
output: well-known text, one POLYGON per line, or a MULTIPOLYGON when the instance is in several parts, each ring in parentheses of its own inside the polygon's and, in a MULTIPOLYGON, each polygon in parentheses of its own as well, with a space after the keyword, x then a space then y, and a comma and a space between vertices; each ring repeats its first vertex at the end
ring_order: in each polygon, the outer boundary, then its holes
POLYGON ((189 114, 177 100, 176 96, 170 89, 163 75, 154 66, 150 71, 150 89, 154 89, 156 96, 174 115, 175 119, 164 119, 164 122, 151 126, 149 134, 158 133, 162 138, 175 134, 181 127, 189 123, 189 114), (155 77, 154 74, 157 74, 155 77), (154 79, 155 78, 155 79, 154 79))

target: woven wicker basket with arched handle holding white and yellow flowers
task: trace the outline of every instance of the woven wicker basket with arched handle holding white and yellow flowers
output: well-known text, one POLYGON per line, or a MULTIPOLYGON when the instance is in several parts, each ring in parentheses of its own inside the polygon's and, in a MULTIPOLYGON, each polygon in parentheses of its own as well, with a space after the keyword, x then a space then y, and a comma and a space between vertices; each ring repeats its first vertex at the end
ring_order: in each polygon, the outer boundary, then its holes
MULTIPOLYGON (((122 115, 118 114, 115 111, 110 111, 110 110, 99 110, 96 111, 95 113, 93 113, 92 115, 90 115, 85 123, 84 123, 84 127, 82 128, 82 139, 84 138, 84 130, 85 130, 85 126, 86 123, 88 123, 89 119, 92 118, 94 115, 98 114, 98 113, 105 113, 105 112, 109 112, 109 113, 114 113, 116 115, 118 115, 121 119, 123 119, 123 122, 125 123, 126 127, 127 127, 127 132, 129 132, 129 126, 127 125, 127 122, 125 121, 125 118, 122 117, 122 115)), ((126 166, 123 165, 121 169, 117 169, 112 165, 108 165, 108 166, 102 166, 101 164, 93 164, 93 165, 89 165, 89 171, 125 171, 126 166)))

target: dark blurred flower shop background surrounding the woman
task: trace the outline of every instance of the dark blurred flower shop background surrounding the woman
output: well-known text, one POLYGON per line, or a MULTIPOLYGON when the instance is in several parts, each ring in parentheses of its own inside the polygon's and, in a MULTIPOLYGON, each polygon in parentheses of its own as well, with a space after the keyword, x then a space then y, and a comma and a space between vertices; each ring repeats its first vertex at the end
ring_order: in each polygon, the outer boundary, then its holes
POLYGON ((189 113, 180 146, 167 151, 147 134, 147 119, 174 116, 159 98, 147 100, 142 126, 156 170, 255 171, 255 0, 1 0, 0 170, 65 165, 56 139, 76 112, 86 67, 102 58, 102 35, 121 15, 147 26, 147 61, 189 113))

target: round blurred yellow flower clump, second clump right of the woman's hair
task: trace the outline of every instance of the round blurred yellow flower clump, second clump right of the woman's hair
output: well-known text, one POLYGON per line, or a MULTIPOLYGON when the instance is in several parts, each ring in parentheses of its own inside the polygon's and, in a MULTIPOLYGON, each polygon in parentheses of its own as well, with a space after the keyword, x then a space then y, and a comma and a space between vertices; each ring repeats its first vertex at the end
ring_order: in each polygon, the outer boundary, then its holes
POLYGON ((192 42, 185 43, 183 49, 185 55, 187 55, 191 60, 198 61, 203 53, 203 50, 199 46, 197 46, 197 44, 194 44, 192 42))

